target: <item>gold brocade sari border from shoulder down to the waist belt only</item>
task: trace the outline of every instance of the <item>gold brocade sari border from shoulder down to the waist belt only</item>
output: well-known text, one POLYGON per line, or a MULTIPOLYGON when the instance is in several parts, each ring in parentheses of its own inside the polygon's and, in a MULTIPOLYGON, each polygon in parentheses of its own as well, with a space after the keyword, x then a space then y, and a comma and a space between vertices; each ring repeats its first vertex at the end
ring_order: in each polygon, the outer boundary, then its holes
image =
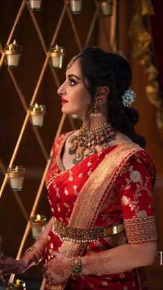
POLYGON ((141 148, 135 143, 119 144, 106 156, 106 158, 103 159, 101 163, 99 163, 77 197, 77 201, 70 217, 70 226, 75 226, 77 228, 90 227, 90 224, 95 217, 95 212, 97 214, 100 200, 102 200, 102 198, 106 199, 106 193, 104 194, 104 197, 102 194, 106 191, 109 183, 109 190, 111 190, 114 184, 115 176, 117 175, 116 170, 119 170, 119 167, 122 167, 122 161, 126 155, 128 157, 136 150, 141 150, 141 148), (109 166, 107 166, 108 164, 109 166), (83 206, 81 206, 81 204, 83 206))

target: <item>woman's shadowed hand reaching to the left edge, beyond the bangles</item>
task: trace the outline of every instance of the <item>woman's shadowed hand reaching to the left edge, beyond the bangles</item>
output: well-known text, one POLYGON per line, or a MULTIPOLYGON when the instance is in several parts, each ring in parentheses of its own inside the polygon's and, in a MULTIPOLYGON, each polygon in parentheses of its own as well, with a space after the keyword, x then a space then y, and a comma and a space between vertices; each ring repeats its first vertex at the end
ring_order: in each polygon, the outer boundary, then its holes
POLYGON ((32 266, 33 263, 30 260, 30 255, 24 255, 21 260, 15 260, 0 252, 0 275, 23 273, 32 266))

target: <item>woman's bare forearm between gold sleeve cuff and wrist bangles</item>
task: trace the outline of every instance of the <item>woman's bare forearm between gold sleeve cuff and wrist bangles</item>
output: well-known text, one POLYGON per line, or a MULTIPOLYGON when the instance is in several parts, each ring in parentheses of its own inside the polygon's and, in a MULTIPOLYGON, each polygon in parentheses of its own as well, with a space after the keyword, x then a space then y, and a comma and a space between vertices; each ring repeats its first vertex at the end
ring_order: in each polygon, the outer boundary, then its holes
POLYGON ((124 244, 111 250, 81 257, 84 275, 110 275, 153 264, 156 242, 124 244))

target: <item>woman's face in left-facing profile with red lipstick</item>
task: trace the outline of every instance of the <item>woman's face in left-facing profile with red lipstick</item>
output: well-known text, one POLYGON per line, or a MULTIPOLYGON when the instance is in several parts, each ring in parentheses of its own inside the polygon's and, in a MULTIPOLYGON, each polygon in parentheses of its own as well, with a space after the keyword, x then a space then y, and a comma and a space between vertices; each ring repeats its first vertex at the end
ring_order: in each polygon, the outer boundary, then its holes
MULTIPOLYGON (((85 80, 86 85, 88 82, 85 80)), ((66 80, 57 93, 61 96, 61 111, 64 114, 85 116, 91 96, 84 85, 79 59, 66 71, 66 80)))

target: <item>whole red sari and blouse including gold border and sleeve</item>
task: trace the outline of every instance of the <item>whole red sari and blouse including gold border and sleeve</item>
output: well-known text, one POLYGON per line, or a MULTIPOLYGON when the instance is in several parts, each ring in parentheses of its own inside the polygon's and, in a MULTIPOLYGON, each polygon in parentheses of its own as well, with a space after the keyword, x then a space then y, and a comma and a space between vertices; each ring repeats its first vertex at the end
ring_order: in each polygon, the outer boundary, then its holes
MULTIPOLYGON (((125 231, 79 245, 61 242, 50 230, 44 262, 52 258, 50 248, 72 257, 106 251, 127 242, 157 239, 151 198, 155 167, 144 149, 135 143, 113 145, 65 170, 61 152, 72 133, 61 134, 53 145, 52 163, 46 176, 52 216, 76 228, 108 228, 124 221, 125 231)), ((48 284, 46 289, 50 289, 48 284)), ((114 275, 72 277, 65 288, 51 289, 144 290, 148 285, 144 267, 139 267, 114 275)))

